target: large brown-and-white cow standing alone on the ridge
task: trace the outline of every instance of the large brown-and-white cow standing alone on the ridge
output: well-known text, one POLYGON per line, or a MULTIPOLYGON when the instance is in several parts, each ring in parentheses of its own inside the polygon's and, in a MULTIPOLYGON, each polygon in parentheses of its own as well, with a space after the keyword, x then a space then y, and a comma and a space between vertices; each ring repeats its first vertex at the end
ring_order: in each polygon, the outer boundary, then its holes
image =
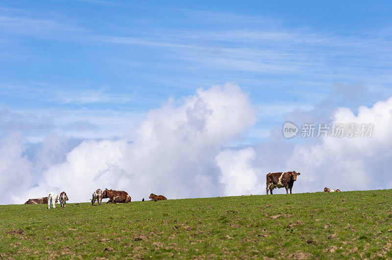
POLYGON ((268 173, 267 174, 267 195, 268 191, 272 195, 272 190, 275 188, 286 188, 286 194, 292 194, 294 181, 297 180, 297 175, 301 173, 287 172, 287 173, 268 173))

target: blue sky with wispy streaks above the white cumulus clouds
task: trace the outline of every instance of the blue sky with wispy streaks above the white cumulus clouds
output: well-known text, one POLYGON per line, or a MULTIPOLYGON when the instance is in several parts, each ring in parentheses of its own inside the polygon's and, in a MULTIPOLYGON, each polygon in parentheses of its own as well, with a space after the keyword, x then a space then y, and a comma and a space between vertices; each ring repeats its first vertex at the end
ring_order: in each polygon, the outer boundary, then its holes
POLYGON ((120 121, 132 118, 122 124, 125 131, 169 98, 233 82, 260 110, 249 138, 263 139, 280 115, 313 108, 337 83, 365 86, 364 105, 390 96, 391 7, 388 1, 2 1, 1 107, 69 116, 85 128, 94 128, 89 116, 113 113, 120 121), (275 108, 273 118, 265 108, 275 108))

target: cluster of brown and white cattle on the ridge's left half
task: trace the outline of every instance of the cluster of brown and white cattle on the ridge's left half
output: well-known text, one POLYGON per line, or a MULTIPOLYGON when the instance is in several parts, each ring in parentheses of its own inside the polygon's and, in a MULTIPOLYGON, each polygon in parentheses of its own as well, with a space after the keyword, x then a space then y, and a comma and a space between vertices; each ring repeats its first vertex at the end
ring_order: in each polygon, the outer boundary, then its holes
MULTIPOLYGON (((131 201, 131 196, 128 195, 127 192, 124 191, 115 191, 105 189, 103 192, 101 189, 94 191, 93 197, 91 200, 91 205, 94 206, 97 201, 98 206, 102 204, 102 198, 109 198, 106 203, 128 203, 131 201)), ((151 200, 166 200, 167 198, 163 195, 155 195, 151 193, 149 196, 151 200)), ((55 203, 58 203, 60 200, 60 207, 65 208, 66 201, 69 200, 68 196, 65 192, 60 193, 60 196, 50 192, 48 197, 42 198, 30 198, 25 202, 25 204, 46 204, 48 203, 48 209, 50 209, 50 204, 52 204, 53 208, 56 207, 55 203)), ((144 201, 144 198, 143 198, 144 201)))

